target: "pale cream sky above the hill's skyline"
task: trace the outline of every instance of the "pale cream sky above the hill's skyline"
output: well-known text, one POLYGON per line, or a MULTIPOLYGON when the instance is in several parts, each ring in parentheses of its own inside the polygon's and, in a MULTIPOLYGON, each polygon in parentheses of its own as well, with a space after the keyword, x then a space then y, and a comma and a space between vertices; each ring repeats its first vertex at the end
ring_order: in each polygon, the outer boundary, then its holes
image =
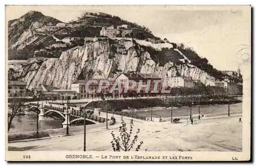
POLYGON ((248 6, 7 6, 6 20, 30 10, 63 22, 76 19, 84 11, 100 11, 144 25, 162 39, 184 43, 219 70, 250 65, 248 6))

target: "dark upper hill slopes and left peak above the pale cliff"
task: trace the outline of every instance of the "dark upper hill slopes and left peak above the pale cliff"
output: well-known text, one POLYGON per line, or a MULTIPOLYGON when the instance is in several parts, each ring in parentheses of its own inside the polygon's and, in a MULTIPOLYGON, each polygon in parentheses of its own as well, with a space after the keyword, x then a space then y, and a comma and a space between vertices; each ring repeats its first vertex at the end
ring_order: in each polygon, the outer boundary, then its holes
POLYGON ((97 13, 82 14, 76 21, 63 23, 53 17, 37 11, 30 11, 20 18, 8 22, 8 58, 9 60, 26 60, 31 57, 44 56, 58 58, 62 51, 84 43, 84 37, 100 35, 101 26, 129 24, 134 32, 127 34, 133 38, 156 38, 146 27, 122 20, 117 16, 97 13), (61 44, 63 38, 80 38, 61 44), (59 46, 58 46, 59 45, 59 46))

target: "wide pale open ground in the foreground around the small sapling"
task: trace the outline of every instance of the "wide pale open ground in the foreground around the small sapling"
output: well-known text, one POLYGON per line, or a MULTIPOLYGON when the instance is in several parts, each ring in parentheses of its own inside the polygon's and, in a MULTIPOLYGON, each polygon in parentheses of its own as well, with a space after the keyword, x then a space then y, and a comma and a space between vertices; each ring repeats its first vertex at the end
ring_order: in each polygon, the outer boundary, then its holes
MULTIPOLYGON (((134 122, 140 128, 141 151, 242 151, 240 117, 201 120, 189 123, 134 122)), ((118 121, 120 125, 120 121, 118 121)), ((112 151, 112 130, 87 133, 87 151, 112 151)), ((117 135, 118 129, 113 129, 117 135)), ((135 133, 135 132, 134 132, 135 133)), ((137 145, 137 144, 136 144, 137 145)), ((9 143, 11 151, 82 151, 83 134, 48 140, 9 143)))

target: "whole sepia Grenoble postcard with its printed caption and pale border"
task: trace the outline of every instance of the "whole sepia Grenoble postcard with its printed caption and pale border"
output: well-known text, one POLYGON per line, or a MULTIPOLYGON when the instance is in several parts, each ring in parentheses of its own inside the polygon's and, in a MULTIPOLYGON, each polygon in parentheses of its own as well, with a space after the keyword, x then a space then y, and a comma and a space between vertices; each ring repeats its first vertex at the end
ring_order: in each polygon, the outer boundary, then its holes
POLYGON ((7 161, 250 160, 251 6, 5 10, 7 161))

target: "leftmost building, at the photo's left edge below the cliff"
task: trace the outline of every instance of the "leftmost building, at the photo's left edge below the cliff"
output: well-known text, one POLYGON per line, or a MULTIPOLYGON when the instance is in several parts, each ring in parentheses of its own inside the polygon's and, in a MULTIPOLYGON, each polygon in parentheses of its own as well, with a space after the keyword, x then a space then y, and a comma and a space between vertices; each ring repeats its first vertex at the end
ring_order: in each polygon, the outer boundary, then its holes
POLYGON ((8 81, 8 97, 26 97, 27 89, 26 82, 22 81, 8 81))

